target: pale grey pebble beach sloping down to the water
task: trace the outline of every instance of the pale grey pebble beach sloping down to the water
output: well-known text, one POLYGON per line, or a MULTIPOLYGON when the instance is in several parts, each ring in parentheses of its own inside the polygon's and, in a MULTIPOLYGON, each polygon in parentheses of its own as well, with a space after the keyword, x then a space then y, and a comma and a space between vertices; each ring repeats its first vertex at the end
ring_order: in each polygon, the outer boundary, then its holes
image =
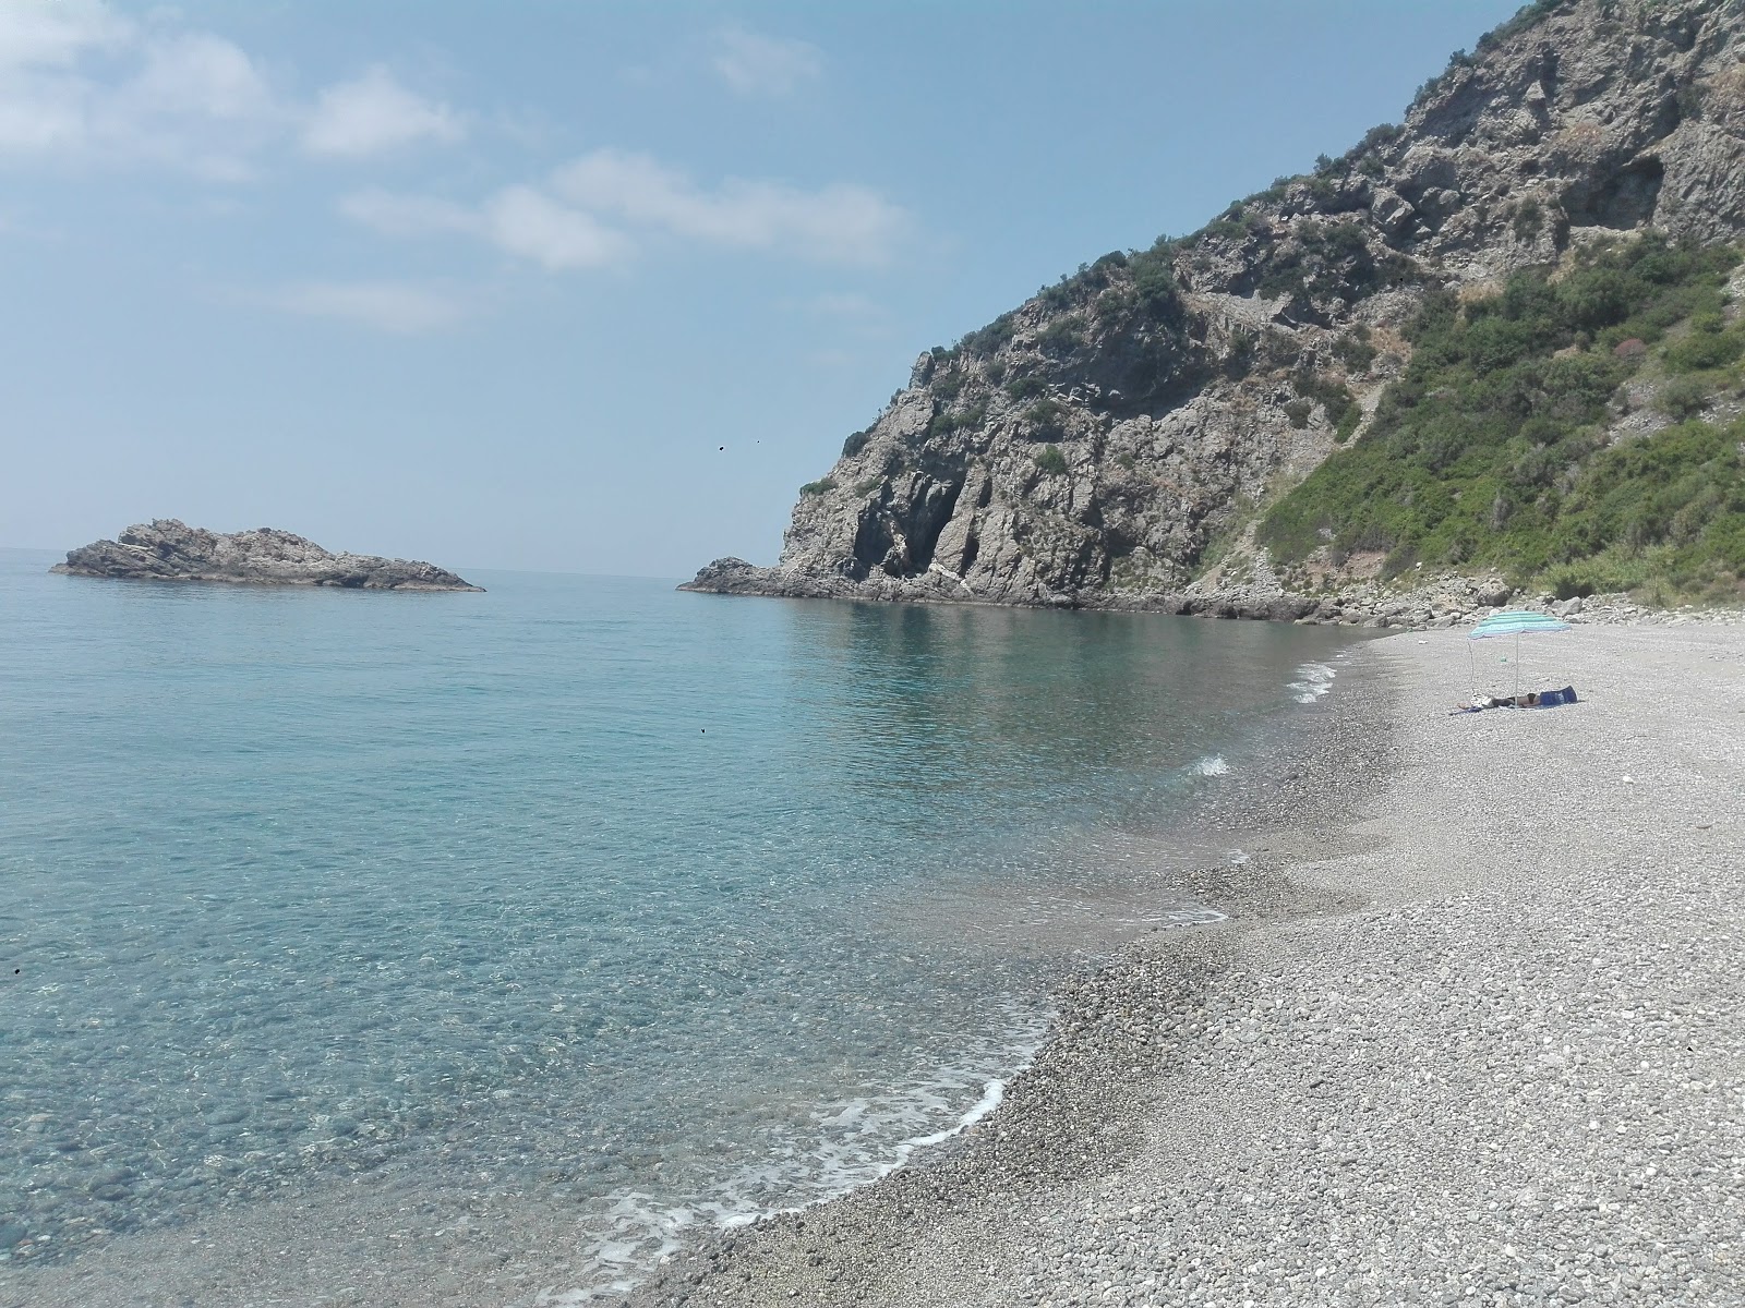
POLYGON ((1386 780, 1230 872, 1331 910, 1143 938, 979 1127, 633 1303, 1745 1305, 1745 628, 1539 640, 1581 705, 1366 645, 1386 780))

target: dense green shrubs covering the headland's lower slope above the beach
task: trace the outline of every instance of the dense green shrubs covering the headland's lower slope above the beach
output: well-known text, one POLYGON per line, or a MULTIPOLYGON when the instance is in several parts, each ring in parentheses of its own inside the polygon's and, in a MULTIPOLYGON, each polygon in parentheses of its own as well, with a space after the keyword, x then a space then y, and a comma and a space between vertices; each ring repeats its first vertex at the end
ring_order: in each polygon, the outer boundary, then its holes
POLYGON ((1495 567, 1560 595, 1736 595, 1745 577, 1745 419, 1696 413, 1745 382, 1724 317, 1740 255, 1656 235, 1513 276, 1461 303, 1433 291, 1405 375, 1368 433, 1267 511, 1284 565, 1384 551, 1384 576, 1495 567), (1626 380, 1677 426, 1607 443, 1626 380))

